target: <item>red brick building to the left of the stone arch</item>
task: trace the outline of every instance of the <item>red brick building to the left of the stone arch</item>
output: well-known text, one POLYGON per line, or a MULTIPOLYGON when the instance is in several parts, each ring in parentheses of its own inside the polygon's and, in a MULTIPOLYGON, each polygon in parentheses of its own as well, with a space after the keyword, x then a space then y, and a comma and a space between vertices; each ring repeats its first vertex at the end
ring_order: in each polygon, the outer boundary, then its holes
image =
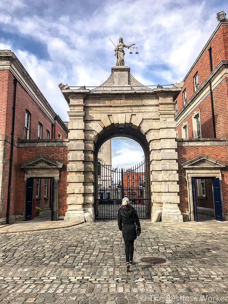
MULTIPOLYGON (((0 62, 0 223, 5 223, 6 220, 13 221, 16 217, 25 219, 26 216, 27 169, 20 167, 23 162, 42 156, 47 157, 46 165, 48 159, 59 161, 63 164, 59 174, 59 188, 63 188, 61 176, 66 175, 68 129, 13 52, 0 51, 0 62)), ((42 164, 45 167, 44 159, 34 166, 39 168, 42 164)), ((52 167, 54 168, 54 164, 52 167)), ((32 173, 33 170, 30 168, 30 171, 32 173)), ((34 176, 29 177, 33 178, 32 200, 36 199, 36 206, 41 209, 49 210, 51 170, 47 176, 42 175, 41 171, 40 176, 34 172, 34 176)), ((64 180, 66 182, 66 176, 64 180)), ((64 199, 61 197, 61 203, 66 204, 65 197, 66 193, 64 199)), ((56 212, 64 215, 61 212, 64 206, 58 206, 59 211, 56 212)))

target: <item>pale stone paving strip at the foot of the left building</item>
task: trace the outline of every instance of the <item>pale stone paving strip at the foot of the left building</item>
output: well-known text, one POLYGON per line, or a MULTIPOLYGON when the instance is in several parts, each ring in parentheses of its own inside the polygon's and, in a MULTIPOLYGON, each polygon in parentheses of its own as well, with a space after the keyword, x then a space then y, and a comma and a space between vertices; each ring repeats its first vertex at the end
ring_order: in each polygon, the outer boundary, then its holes
POLYGON ((17 233, 27 231, 39 231, 48 229, 66 228, 79 225, 83 222, 46 221, 46 222, 18 222, 0 226, 0 233, 17 233))

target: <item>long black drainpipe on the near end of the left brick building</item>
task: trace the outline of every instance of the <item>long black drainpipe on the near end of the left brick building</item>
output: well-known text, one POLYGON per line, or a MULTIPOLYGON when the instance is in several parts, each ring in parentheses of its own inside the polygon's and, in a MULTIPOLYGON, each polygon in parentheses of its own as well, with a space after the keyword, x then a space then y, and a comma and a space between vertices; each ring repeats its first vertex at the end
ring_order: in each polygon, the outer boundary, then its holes
POLYGON ((11 131, 11 145, 10 145, 10 159, 9 159, 9 182, 8 182, 8 196, 7 196, 7 209, 6 209, 6 224, 9 224, 9 207, 10 207, 10 192, 12 180, 12 166, 13 166, 13 140, 14 140, 14 125, 15 125, 15 110, 16 110, 16 92, 17 92, 17 79, 14 78, 14 94, 13 94, 13 117, 12 117, 12 131, 11 131))

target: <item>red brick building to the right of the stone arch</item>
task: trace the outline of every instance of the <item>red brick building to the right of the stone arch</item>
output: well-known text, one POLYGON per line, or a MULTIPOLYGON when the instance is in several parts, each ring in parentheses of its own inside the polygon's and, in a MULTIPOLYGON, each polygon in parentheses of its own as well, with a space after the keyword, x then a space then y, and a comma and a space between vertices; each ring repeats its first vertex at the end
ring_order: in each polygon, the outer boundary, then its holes
POLYGON ((198 220, 228 219, 228 19, 219 22, 188 71, 175 107, 177 137, 182 138, 177 139, 177 152, 185 220, 197 214, 198 220))

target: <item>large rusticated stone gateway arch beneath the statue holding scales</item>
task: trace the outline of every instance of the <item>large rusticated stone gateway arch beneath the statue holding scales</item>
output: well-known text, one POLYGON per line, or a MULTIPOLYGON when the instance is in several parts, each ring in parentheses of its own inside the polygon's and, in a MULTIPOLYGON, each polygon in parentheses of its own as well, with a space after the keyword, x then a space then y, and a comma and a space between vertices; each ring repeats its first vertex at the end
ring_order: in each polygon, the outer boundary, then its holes
POLYGON ((162 210, 163 222, 183 221, 174 121, 181 88, 145 87, 127 66, 112 67, 109 78, 93 90, 59 87, 70 108, 65 220, 84 221, 85 212, 95 218, 95 156, 102 143, 119 135, 140 143, 149 159, 152 216, 162 210))

